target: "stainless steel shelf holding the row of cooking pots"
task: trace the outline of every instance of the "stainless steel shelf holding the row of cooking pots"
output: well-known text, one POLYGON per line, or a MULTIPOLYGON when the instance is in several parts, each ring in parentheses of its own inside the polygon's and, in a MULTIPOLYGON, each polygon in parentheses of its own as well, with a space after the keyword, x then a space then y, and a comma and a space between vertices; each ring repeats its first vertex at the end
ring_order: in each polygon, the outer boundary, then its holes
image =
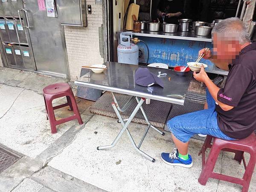
MULTIPOLYGON (((127 31, 120 31, 120 32, 127 32, 127 31)), ((117 32, 117 34, 119 34, 120 32, 117 32)), ((199 35, 195 35, 195 31, 177 32, 177 33, 151 32, 151 31, 140 31, 140 32, 131 31, 131 32, 132 32, 132 35, 141 36, 141 37, 212 42, 211 35, 210 36, 199 36, 199 35)))

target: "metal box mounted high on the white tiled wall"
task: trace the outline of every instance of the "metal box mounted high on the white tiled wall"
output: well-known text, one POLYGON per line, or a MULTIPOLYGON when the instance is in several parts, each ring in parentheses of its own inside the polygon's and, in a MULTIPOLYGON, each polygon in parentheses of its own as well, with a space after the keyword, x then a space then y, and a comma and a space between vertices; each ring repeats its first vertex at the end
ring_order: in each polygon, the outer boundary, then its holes
POLYGON ((57 2, 62 25, 87 26, 85 0, 58 0, 57 2))

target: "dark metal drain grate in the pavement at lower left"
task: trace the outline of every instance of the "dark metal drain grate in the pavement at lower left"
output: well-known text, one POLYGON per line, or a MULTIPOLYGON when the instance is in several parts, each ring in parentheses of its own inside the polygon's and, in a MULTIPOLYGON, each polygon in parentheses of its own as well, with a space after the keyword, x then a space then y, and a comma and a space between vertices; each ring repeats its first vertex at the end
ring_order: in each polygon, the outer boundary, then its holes
POLYGON ((0 146, 0 173, 19 160, 22 156, 0 146))

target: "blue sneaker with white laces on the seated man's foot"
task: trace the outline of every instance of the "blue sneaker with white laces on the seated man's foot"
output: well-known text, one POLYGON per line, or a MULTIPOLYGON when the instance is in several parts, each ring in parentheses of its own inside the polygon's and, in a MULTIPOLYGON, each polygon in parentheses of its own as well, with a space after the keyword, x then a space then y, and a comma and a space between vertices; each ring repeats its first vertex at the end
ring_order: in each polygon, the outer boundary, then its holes
POLYGON ((172 166, 181 166, 181 167, 186 167, 190 168, 193 165, 192 158, 189 155, 188 160, 183 160, 181 159, 178 155, 179 152, 177 148, 173 149, 174 152, 172 153, 162 153, 161 154, 161 159, 163 160, 164 163, 172 166))

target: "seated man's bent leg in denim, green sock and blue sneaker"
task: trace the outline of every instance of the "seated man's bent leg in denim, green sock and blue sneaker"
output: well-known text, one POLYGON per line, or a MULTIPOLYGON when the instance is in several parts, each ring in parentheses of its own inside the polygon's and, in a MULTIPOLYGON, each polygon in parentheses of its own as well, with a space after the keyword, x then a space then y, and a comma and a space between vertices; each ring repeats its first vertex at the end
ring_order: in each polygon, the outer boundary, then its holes
POLYGON ((167 122, 172 132, 176 148, 174 152, 162 153, 162 160, 174 166, 191 167, 192 158, 188 154, 189 139, 195 134, 209 134, 208 129, 218 129, 215 108, 195 111, 176 116, 167 122))

